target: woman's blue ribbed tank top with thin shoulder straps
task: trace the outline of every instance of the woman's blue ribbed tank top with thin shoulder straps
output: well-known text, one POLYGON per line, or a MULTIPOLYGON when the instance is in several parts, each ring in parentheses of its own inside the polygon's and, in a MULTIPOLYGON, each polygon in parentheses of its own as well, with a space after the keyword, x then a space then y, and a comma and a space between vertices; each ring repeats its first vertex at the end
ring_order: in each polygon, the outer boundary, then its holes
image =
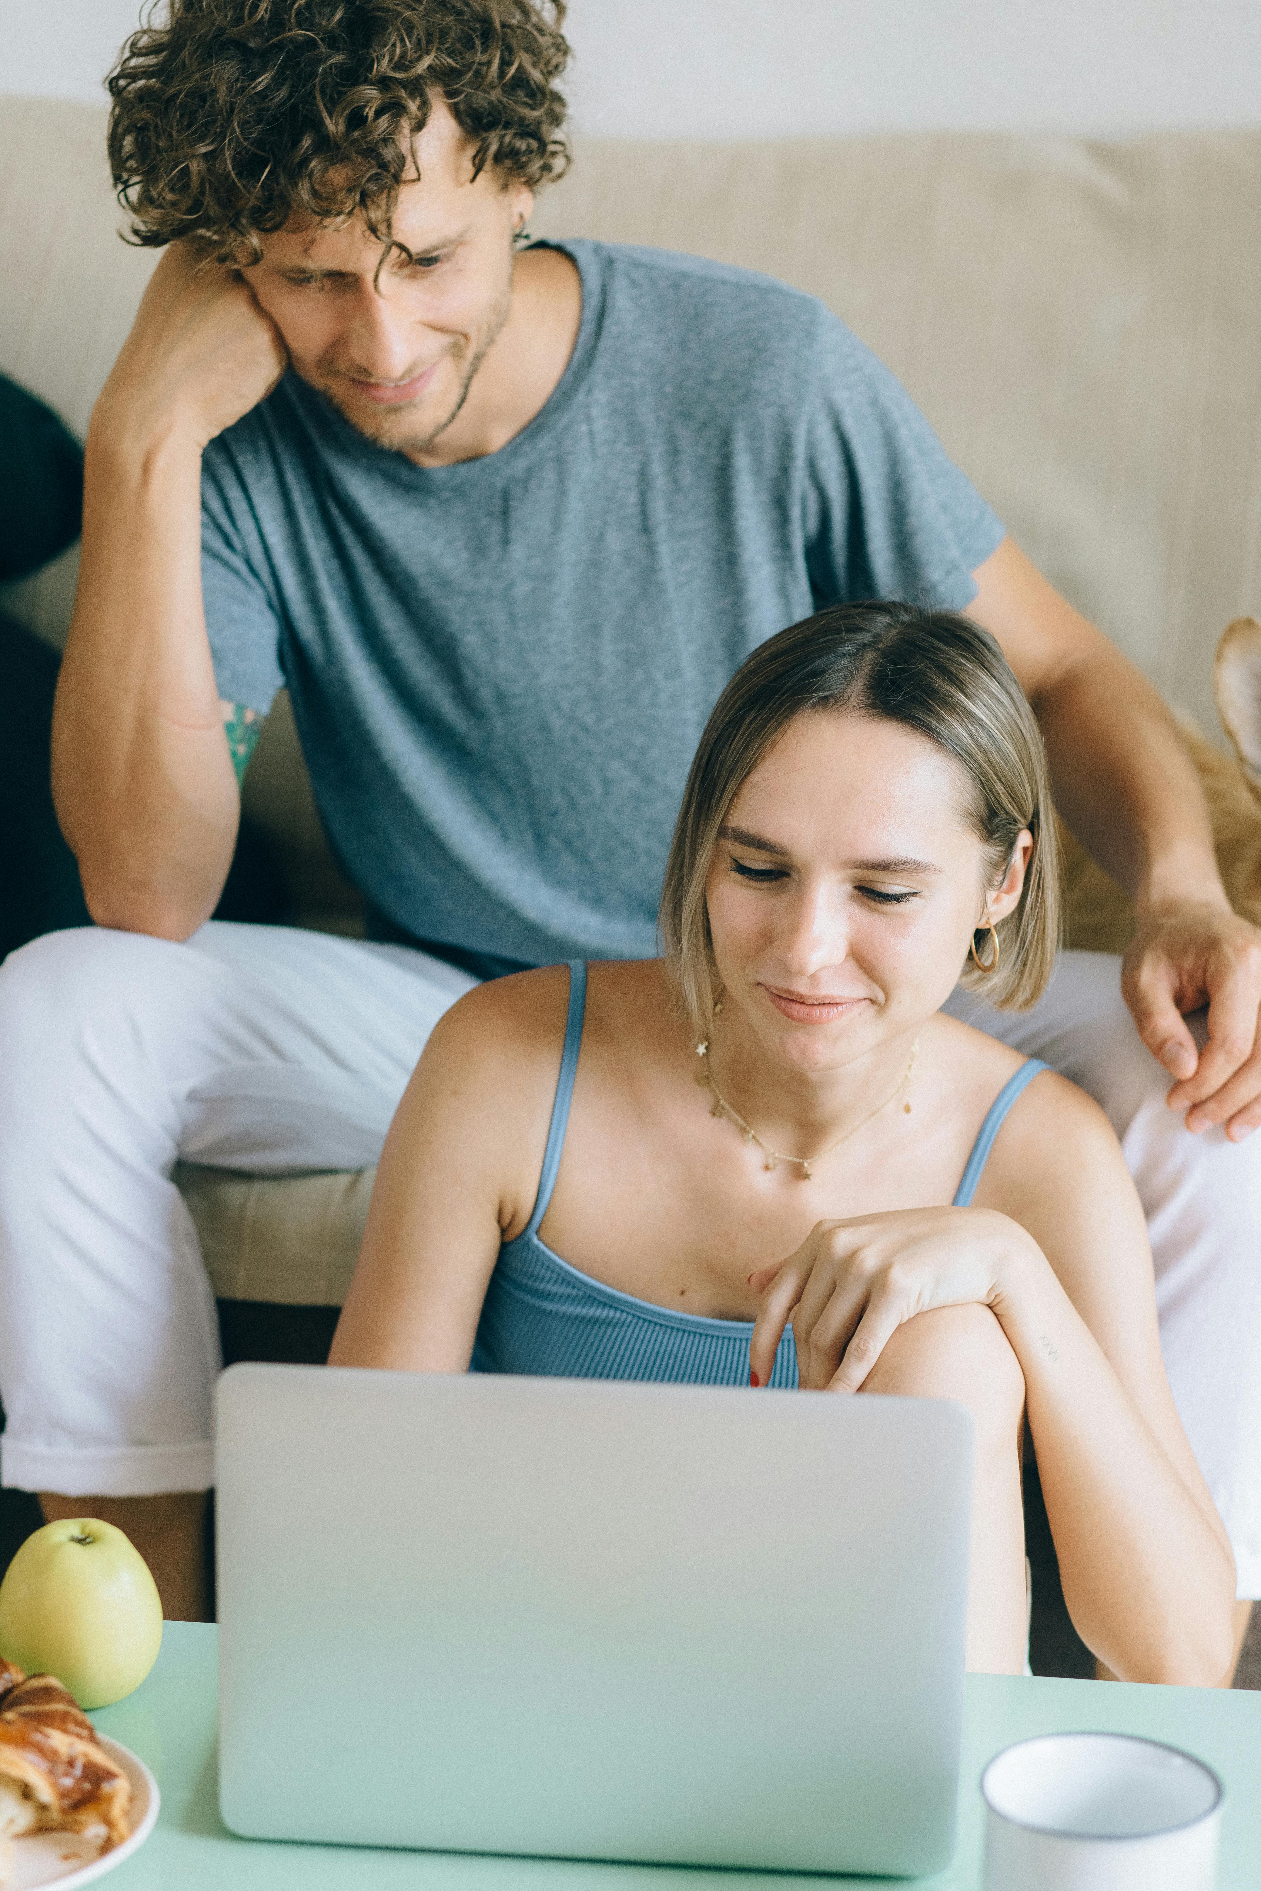
MULTIPOLYGON (((575 959, 569 963, 565 1048, 543 1154, 539 1199, 522 1233, 499 1248, 471 1369, 529 1373, 543 1379, 652 1379, 747 1386, 751 1320, 707 1320, 701 1314, 675 1312, 635 1299, 633 1293, 622 1293, 603 1280, 579 1273, 539 1240, 539 1223, 552 1199, 560 1152, 565 1146, 584 1010, 586 964, 575 959)), ((1025 1085, 1045 1068, 1030 1057, 994 1097, 955 1191, 957 1208, 966 1208, 972 1201, 1008 1110, 1025 1085)), ((794 1388, 796 1382, 796 1346, 788 1329, 775 1352, 775 1369, 768 1384, 794 1388)))

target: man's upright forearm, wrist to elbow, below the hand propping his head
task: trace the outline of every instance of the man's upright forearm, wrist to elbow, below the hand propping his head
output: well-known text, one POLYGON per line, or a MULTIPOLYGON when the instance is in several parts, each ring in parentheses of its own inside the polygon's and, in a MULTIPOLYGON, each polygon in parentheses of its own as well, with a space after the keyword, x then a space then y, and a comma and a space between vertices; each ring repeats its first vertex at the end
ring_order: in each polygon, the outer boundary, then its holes
POLYGON ((53 794, 93 917, 187 938, 233 859, 238 794, 200 598, 200 452, 93 420, 53 794))

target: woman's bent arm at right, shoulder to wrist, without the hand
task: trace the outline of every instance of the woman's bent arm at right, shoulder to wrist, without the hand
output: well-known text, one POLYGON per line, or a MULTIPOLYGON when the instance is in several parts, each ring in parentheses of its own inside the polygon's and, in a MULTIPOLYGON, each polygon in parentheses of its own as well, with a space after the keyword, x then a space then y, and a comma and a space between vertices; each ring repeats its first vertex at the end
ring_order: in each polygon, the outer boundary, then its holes
POLYGON ((1062 1078, 1032 1091, 983 1199, 1036 1242, 994 1312, 1025 1367, 1064 1602, 1123 1679, 1212 1685, 1235 1560, 1168 1390, 1142 1206, 1102 1110, 1062 1078))

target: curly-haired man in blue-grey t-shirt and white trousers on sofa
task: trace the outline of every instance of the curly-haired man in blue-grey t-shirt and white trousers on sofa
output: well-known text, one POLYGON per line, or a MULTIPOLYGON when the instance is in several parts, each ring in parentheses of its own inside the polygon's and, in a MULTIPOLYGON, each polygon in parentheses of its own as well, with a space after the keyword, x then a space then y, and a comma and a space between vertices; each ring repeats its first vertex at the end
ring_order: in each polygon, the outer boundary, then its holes
POLYGON ((172 0, 110 81, 117 185, 166 248, 93 414, 57 707, 98 928, 0 976, 4 1481, 117 1518, 166 1613, 200 1613, 217 1337, 176 1159, 367 1165, 476 978, 652 955, 743 656, 834 599, 930 598, 998 637, 1068 817, 1140 900, 1138 1032, 1087 955, 985 1027, 1125 1140, 1252 1596, 1261 1165, 1231 1144, 1261 1121, 1261 940, 1176 732, 819 303, 522 248, 565 163, 561 25, 561 0, 172 0), (371 944, 206 925, 282 685, 371 944), (1182 1014, 1206 998, 1204 1046, 1182 1014))

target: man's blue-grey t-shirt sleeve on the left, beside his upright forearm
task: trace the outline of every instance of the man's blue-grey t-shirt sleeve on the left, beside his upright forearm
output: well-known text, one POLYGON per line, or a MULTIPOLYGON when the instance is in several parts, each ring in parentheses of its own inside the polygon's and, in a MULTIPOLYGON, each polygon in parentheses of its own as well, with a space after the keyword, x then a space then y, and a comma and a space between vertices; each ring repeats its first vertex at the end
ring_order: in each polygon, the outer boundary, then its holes
POLYGON ((219 698, 267 715, 285 681, 280 607, 253 507, 219 441, 202 460, 202 599, 219 698))

